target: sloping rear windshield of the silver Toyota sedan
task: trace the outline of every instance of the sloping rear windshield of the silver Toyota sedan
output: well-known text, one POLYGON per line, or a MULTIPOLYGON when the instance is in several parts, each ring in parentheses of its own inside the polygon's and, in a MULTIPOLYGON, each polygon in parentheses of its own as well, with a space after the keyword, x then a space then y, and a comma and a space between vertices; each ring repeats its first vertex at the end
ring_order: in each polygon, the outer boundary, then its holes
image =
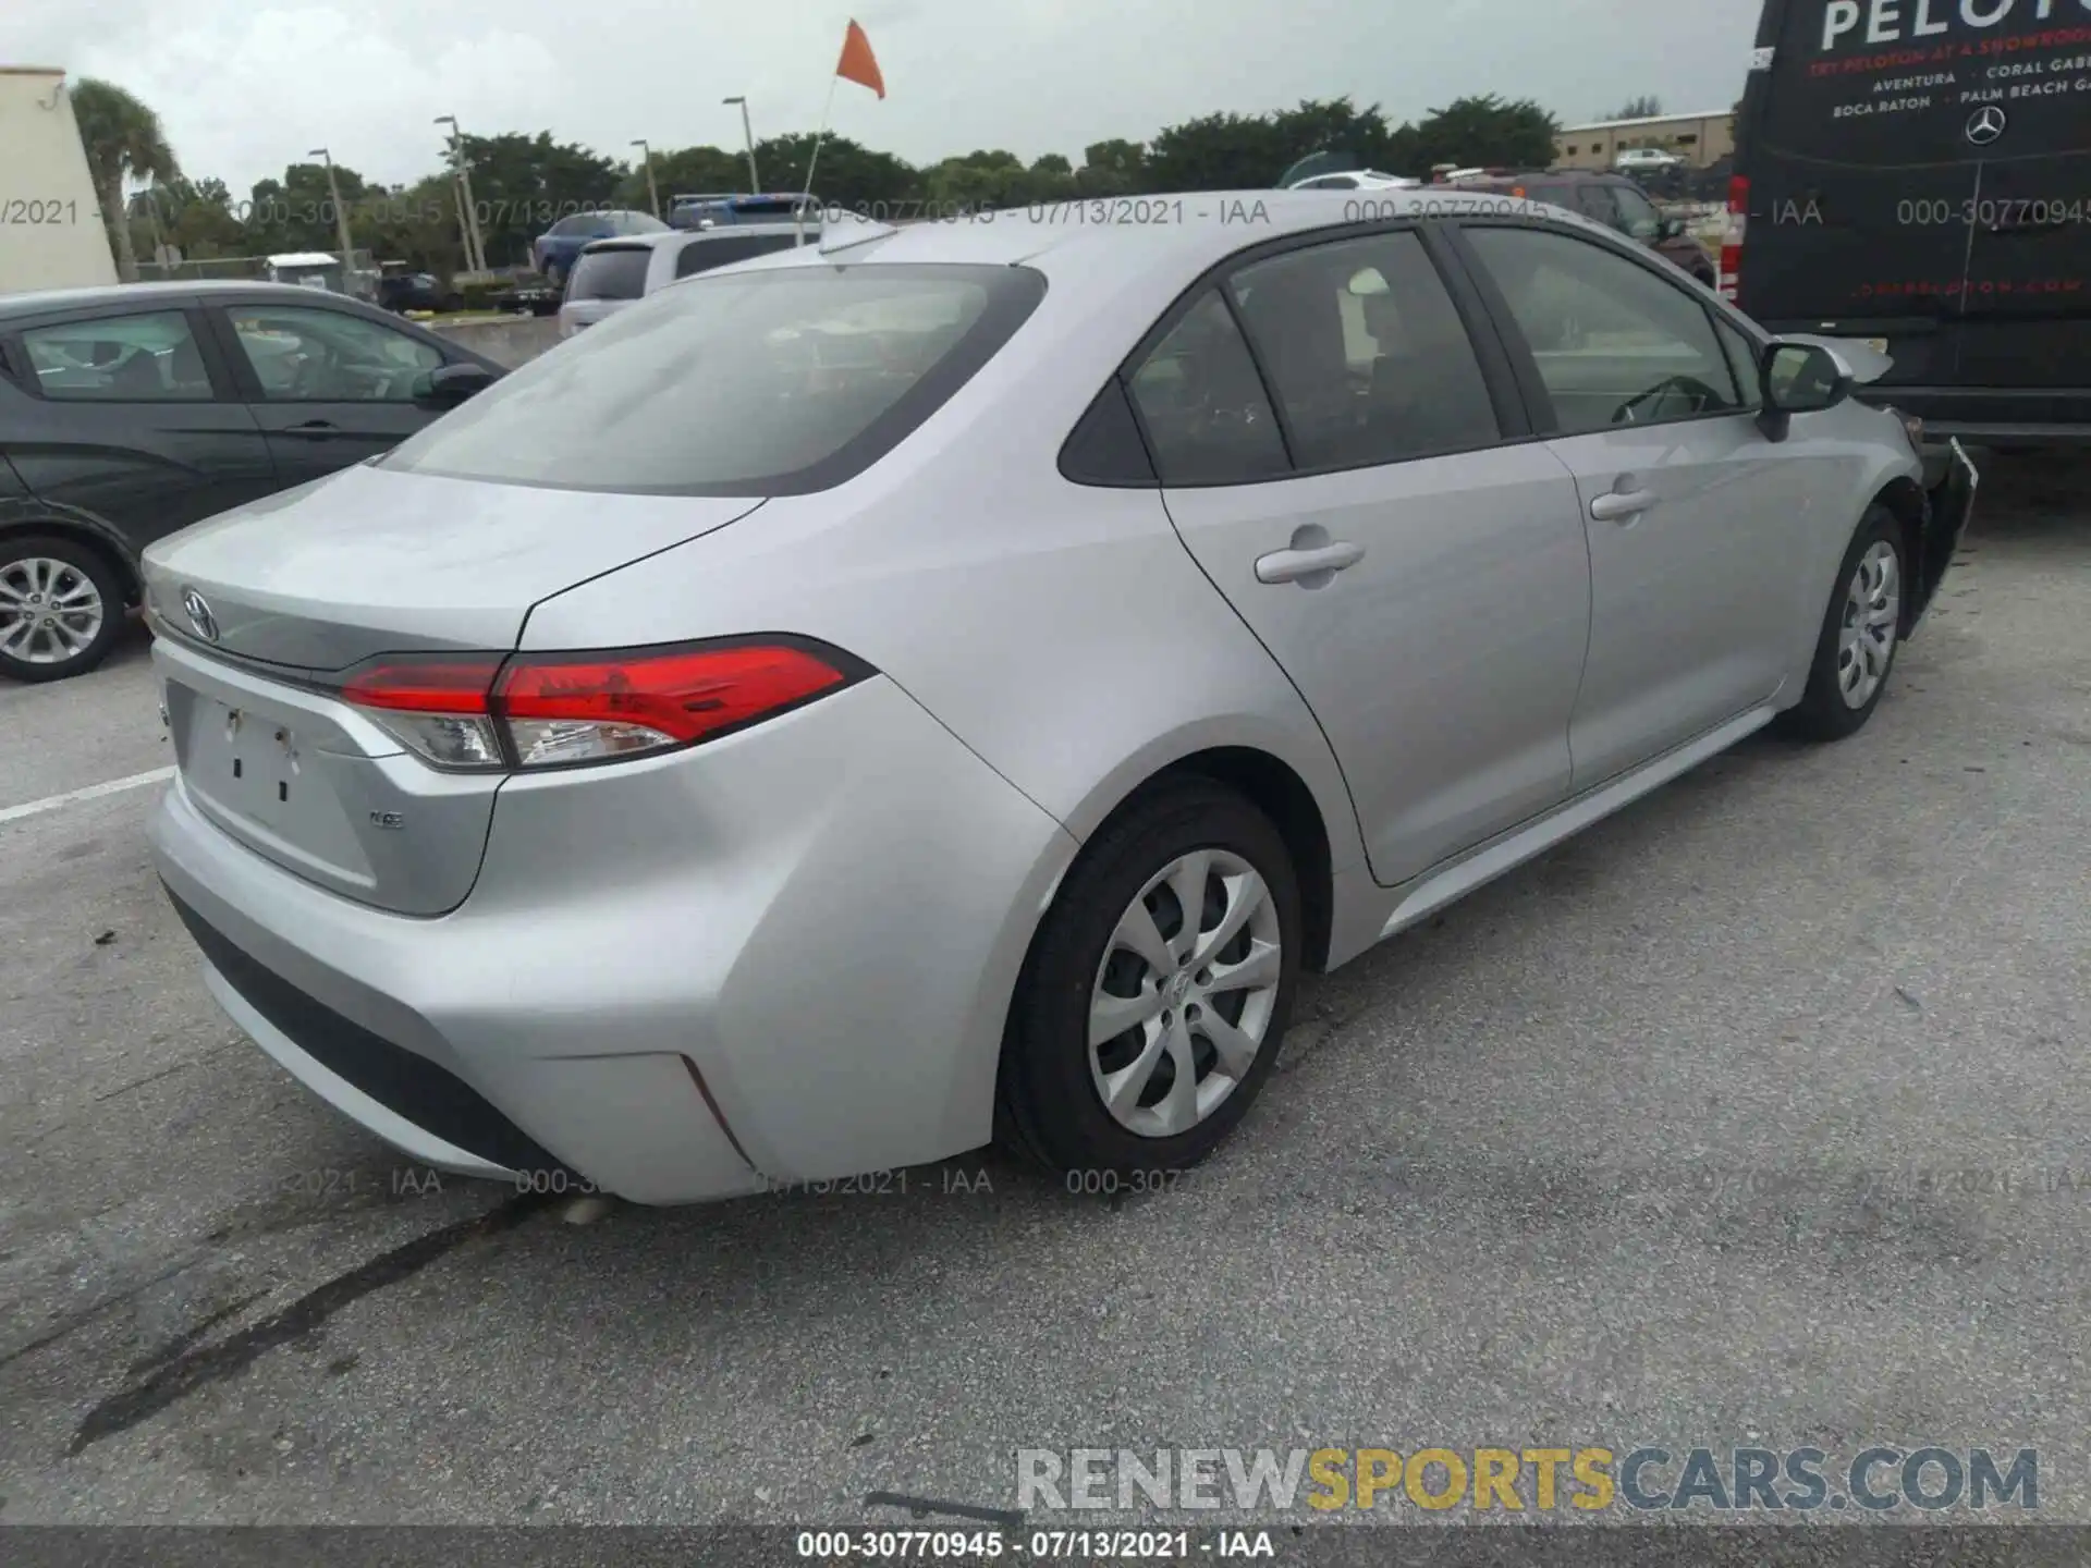
POLYGON ((989 266, 696 278, 525 364, 381 466, 657 495, 826 489, 935 414, 1043 293, 1041 274, 989 266))

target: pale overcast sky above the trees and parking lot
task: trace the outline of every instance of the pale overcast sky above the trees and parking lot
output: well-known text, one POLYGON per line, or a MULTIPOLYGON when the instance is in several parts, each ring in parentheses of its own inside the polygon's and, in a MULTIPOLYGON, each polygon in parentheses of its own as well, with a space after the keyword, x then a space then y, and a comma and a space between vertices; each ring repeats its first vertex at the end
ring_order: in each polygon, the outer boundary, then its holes
POLYGON ((0 65, 107 77, 159 111, 190 176, 236 197, 307 148, 399 184, 477 134, 550 130, 631 157, 811 130, 855 17, 887 77, 843 84, 834 130, 926 163, 1146 140, 1221 109, 1351 94, 1414 119, 1470 92, 1564 121, 1652 92, 1742 92, 1759 0, 0 0, 0 65))

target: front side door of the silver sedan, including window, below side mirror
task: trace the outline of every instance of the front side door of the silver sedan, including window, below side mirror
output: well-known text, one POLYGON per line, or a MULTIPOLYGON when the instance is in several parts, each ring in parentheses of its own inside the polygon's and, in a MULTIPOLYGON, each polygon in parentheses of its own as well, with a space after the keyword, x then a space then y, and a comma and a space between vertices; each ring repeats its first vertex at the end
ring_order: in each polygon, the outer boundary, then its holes
POLYGON ((1723 347, 1667 263, 1533 226, 1462 236, 1514 326, 1589 537, 1589 659, 1568 732, 1583 790, 1779 690, 1794 562, 1819 527, 1815 468, 1759 431, 1748 347, 1723 347))

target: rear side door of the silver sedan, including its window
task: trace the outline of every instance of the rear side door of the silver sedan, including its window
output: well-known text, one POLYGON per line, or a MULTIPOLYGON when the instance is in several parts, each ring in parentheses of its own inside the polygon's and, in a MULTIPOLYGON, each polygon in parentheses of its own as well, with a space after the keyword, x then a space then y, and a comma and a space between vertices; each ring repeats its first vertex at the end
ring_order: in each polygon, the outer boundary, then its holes
POLYGON ((1184 544, 1328 734, 1376 880, 1566 797, 1589 633, 1575 483, 1503 441, 1418 232, 1242 266, 1131 393, 1184 544))

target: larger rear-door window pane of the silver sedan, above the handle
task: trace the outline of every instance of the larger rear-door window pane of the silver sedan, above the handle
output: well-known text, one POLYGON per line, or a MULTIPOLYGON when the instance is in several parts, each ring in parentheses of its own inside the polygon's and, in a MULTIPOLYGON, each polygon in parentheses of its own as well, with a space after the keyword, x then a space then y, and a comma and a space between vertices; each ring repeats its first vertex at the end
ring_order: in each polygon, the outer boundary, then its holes
POLYGON ((1232 289, 1301 468, 1499 439, 1480 362, 1416 234, 1286 251, 1242 268, 1232 289))

